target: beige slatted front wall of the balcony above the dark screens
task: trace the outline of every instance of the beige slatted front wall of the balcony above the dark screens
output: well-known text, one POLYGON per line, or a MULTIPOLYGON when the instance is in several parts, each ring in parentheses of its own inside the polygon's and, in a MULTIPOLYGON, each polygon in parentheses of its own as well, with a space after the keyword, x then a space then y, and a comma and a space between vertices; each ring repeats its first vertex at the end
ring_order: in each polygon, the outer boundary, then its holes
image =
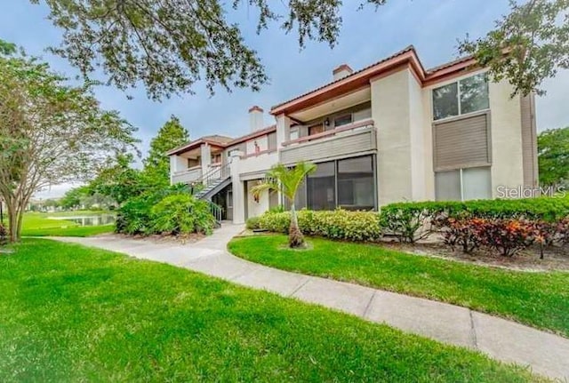
POLYGON ((341 156, 368 154, 377 149, 372 119, 343 125, 331 131, 301 137, 283 143, 280 161, 320 161, 341 156))

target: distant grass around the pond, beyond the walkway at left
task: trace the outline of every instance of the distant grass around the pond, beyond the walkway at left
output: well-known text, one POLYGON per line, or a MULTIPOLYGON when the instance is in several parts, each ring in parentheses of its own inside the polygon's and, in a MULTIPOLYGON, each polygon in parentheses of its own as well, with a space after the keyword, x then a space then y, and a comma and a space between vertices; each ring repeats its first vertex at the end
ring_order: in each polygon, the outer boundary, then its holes
MULTIPOLYGON (((80 217, 108 214, 108 211, 26 212, 22 221, 23 236, 90 236, 112 233, 114 225, 81 227, 76 222, 50 217, 80 217)), ((4 219, 7 220, 7 219, 4 219)), ((7 225, 7 222, 4 222, 7 225)))

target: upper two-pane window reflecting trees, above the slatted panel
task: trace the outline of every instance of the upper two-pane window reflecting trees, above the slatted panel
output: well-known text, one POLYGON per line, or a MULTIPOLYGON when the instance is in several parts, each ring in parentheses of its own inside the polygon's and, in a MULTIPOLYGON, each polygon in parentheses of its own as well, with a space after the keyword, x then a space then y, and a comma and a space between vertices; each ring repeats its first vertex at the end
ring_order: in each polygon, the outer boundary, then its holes
POLYGON ((433 119, 460 116, 490 108, 485 73, 433 89, 433 119))

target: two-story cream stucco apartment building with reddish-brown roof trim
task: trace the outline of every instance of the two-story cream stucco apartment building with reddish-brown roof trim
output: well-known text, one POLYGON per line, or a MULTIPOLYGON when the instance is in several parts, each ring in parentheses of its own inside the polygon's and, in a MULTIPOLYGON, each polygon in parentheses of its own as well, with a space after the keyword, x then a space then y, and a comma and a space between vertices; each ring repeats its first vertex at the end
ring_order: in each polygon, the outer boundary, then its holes
POLYGON ((498 196, 537 186, 533 96, 511 98, 472 58, 425 69, 413 46, 353 71, 333 70, 315 90, 249 110, 243 137, 207 136, 172 149, 172 183, 203 183, 201 197, 236 223, 280 203, 249 190, 276 163, 316 163, 298 208, 379 209, 399 201, 498 196))

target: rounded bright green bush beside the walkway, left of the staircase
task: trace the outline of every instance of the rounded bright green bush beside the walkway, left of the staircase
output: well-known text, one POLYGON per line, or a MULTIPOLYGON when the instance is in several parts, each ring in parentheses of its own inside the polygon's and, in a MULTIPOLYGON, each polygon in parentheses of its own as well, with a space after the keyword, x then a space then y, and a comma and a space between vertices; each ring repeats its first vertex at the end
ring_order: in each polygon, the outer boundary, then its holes
POLYGON ((157 234, 211 234, 215 219, 209 203, 189 194, 164 197, 150 211, 152 231, 157 234))

